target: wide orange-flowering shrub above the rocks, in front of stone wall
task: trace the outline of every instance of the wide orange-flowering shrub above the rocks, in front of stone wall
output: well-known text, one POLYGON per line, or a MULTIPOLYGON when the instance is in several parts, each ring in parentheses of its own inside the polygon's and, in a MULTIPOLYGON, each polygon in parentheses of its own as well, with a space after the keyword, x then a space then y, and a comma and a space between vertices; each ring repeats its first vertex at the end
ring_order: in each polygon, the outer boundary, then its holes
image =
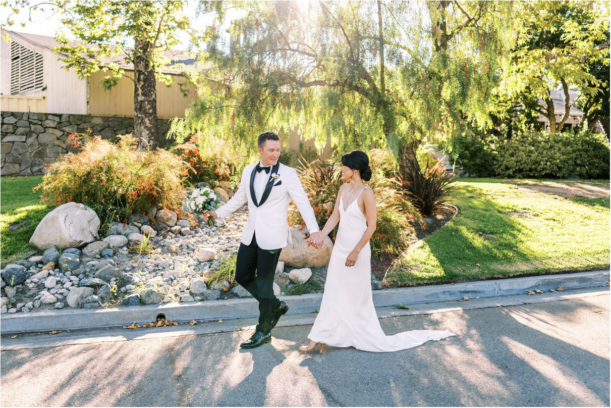
MULTIPOLYGON (((98 136, 73 133, 67 154, 48 167, 42 183, 42 202, 59 206, 75 201, 97 209, 146 212, 152 205, 180 210, 183 179, 188 164, 167 150, 140 152, 132 135, 119 136, 116 144, 98 136)), ((98 213, 98 215, 100 215, 98 213)))

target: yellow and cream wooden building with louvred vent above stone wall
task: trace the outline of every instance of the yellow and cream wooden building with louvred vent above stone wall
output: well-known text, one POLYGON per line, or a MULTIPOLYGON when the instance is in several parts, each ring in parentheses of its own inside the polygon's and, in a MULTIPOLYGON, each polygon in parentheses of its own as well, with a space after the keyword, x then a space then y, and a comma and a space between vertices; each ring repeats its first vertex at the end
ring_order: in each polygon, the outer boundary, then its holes
MULTIPOLYGON (((62 53, 55 53, 59 43, 46 35, 26 34, 2 29, 0 49, 0 93, 2 111, 54 114, 90 114, 92 116, 133 117, 133 67, 122 61, 121 55, 106 59, 104 65, 116 62, 125 75, 117 86, 106 91, 101 84, 104 70, 93 73, 87 80, 78 78, 74 70, 62 68, 62 53)), ((177 83, 185 83, 185 76, 176 64, 194 64, 186 51, 167 52, 170 64, 164 73, 175 76, 171 86, 157 82, 157 116, 159 119, 183 117, 192 98, 197 97, 194 86, 188 87, 185 97, 177 83)))

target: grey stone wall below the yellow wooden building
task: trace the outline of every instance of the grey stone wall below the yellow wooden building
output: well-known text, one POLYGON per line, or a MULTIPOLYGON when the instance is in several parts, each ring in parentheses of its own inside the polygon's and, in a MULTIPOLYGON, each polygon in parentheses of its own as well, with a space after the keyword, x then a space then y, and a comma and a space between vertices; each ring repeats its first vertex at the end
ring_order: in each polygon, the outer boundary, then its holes
MULTIPOLYGON (((159 134, 169 130, 168 119, 158 119, 159 134)), ((133 117, 110 117, 75 114, 2 112, 0 174, 32 176, 43 174, 44 165, 51 164, 68 152, 68 135, 86 132, 113 140, 134 130, 133 117)))

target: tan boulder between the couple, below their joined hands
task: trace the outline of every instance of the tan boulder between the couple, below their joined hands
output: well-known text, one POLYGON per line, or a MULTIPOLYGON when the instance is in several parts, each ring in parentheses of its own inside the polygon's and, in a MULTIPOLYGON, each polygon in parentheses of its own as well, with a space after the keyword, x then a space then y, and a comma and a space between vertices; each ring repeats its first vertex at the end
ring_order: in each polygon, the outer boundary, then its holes
POLYGON ((333 242, 328 236, 324 237, 323 247, 317 250, 314 247, 308 247, 305 242, 305 234, 299 230, 299 226, 290 228, 293 243, 282 248, 280 252, 280 261, 283 261, 286 266, 296 268, 321 268, 329 265, 331 259, 331 251, 333 250, 333 242))

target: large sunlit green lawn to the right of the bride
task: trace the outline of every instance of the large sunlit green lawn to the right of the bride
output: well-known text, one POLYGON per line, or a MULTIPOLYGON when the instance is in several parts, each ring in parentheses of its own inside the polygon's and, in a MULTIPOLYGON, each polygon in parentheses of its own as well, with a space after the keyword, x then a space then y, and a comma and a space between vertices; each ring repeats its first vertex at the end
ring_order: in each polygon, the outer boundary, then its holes
POLYGON ((385 284, 609 267, 609 198, 563 198, 494 179, 461 179, 454 197, 459 214, 409 248, 387 272, 385 284))

